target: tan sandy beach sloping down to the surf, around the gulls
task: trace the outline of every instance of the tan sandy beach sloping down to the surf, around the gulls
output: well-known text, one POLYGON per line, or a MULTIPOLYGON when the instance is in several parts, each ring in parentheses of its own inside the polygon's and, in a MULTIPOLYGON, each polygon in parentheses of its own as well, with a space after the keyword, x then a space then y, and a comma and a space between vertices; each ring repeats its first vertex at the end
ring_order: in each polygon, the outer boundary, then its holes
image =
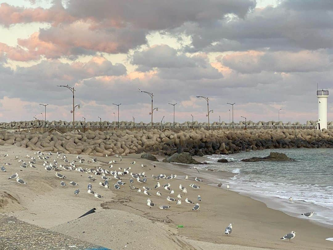
MULTIPOLYGON (((156 195, 156 190, 150 190, 149 196, 156 207, 147 206, 148 195, 137 190, 130 190, 130 175, 123 176, 126 185, 116 190, 113 185, 116 179, 109 181, 110 188, 99 186, 100 176, 94 176, 97 181, 92 182, 93 190, 103 195, 97 199, 87 193, 90 174, 77 171, 58 172, 64 176, 66 187, 61 187, 61 180, 55 176, 54 171, 45 171, 43 161, 37 160, 36 168, 20 168, 15 156, 28 162, 26 155, 34 155, 29 151, 15 146, 1 147, 1 164, 12 163, 5 166, 7 172, 0 173, 0 212, 14 216, 27 223, 38 225, 59 233, 101 245, 110 249, 332 249, 333 242, 325 238, 333 236, 333 229, 311 222, 311 219, 300 219, 284 214, 283 212, 267 208, 262 202, 240 195, 223 188, 208 186, 194 181, 195 177, 203 178, 204 173, 198 174, 194 169, 175 170, 170 163, 157 163, 140 159, 140 154, 124 156, 122 161, 114 164, 113 169, 127 168, 130 172, 145 172, 147 183, 134 181, 134 186, 154 188, 157 181, 152 174, 175 174, 176 179, 160 180, 161 186, 170 183, 174 194, 170 195, 162 187, 159 188, 162 196, 156 195), (5 154, 9 156, 3 157, 5 154), (131 165, 132 161, 136 164, 131 165), (141 167, 141 164, 148 167, 141 167), (156 164, 156 168, 153 165, 156 164), (172 166, 172 169, 168 169, 172 166), (8 177, 18 173, 27 185, 8 180, 8 177), (189 176, 184 180, 184 175, 189 176), (75 181, 79 186, 72 186, 75 181), (200 189, 189 187, 190 183, 200 186, 200 189), (197 195, 202 201, 198 211, 192 211, 193 205, 185 203, 185 195, 178 186, 186 187, 187 197, 196 202, 197 195), (74 190, 80 189, 78 196, 74 190), (175 202, 168 204, 166 196, 176 198, 182 195, 182 204, 175 202), (167 210, 158 209, 159 205, 170 205, 167 210), (95 207, 96 213, 77 219, 79 216, 95 207), (224 229, 232 223, 233 230, 230 236, 224 235, 224 229), (176 228, 177 225, 183 228, 176 228), (279 238, 295 231, 296 237, 292 243, 279 238)), ((36 156, 36 155, 34 155, 36 156)), ((76 155, 66 154, 71 161, 76 155)), ((98 163, 87 164, 91 156, 81 155, 86 159, 84 164, 77 167, 95 168, 101 166, 108 168, 106 163, 116 159, 111 157, 97 157, 98 163)), ((57 157, 53 153, 49 162, 57 157)), ((58 159, 59 164, 63 161, 58 159)), ((222 173, 223 175, 223 173, 222 173)), ((228 173, 225 173, 228 177, 228 173)))

